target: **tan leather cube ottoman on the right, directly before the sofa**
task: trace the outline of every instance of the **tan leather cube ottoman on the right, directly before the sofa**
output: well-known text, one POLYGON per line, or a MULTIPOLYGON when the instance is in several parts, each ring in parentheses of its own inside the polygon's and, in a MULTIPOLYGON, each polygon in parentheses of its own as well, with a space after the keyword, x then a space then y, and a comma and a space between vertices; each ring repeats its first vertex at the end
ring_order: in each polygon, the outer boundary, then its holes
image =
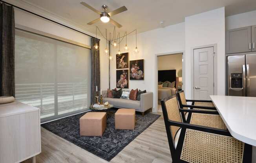
POLYGON ((118 109, 115 112, 115 129, 134 130, 135 109, 118 109))

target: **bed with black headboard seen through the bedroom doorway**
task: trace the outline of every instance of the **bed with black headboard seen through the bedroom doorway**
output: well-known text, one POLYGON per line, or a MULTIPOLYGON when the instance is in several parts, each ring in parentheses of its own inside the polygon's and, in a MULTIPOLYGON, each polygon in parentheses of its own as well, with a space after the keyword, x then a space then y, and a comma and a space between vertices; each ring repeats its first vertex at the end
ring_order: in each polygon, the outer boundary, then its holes
MULTIPOLYGON (((159 70, 158 71, 158 82, 176 82, 177 83, 177 78, 176 78, 176 70, 159 70)), ((176 94, 176 88, 177 84, 175 84, 174 88, 170 87, 163 87, 163 88, 158 88, 158 103, 160 104, 160 101, 173 96, 176 94)))

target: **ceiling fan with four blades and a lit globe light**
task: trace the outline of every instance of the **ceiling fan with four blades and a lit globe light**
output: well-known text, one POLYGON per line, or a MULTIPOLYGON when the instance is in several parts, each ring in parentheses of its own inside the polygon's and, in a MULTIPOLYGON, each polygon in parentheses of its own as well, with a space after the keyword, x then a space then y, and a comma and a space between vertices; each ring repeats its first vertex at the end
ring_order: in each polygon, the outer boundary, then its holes
POLYGON ((122 13, 124 11, 127 10, 127 8, 125 6, 120 7, 114 11, 111 11, 110 13, 106 13, 106 9, 108 9, 107 5, 102 5, 102 8, 104 9, 104 11, 101 13, 100 11, 96 10, 95 8, 91 7, 90 5, 86 4, 85 2, 81 2, 80 4, 84 5, 85 7, 88 7, 89 9, 91 9, 92 11, 94 11, 95 13, 100 15, 100 18, 97 18, 89 23, 87 23, 88 25, 92 25, 97 23, 99 20, 101 20, 104 23, 110 22, 113 25, 117 26, 118 28, 121 28, 122 25, 117 23, 115 20, 113 20, 112 18, 110 18, 110 16, 122 13))

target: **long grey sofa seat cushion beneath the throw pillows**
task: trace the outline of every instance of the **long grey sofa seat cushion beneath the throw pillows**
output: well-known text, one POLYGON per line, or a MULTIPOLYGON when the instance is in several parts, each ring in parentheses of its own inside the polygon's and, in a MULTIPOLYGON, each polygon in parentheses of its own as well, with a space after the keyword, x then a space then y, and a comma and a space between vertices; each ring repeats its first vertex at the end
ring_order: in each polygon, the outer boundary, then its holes
POLYGON ((121 108, 131 108, 136 110, 140 109, 140 101, 135 100, 126 100, 121 98, 104 98, 103 102, 108 101, 110 104, 114 105, 114 107, 121 107, 121 108))

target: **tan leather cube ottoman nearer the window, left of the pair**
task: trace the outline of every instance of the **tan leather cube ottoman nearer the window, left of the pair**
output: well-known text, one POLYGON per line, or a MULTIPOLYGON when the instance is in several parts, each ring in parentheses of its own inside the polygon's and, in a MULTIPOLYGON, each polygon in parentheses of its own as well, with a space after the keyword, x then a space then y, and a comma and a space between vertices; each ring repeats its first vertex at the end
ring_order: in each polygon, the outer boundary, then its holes
POLYGON ((80 122, 80 136, 102 136, 106 129, 106 112, 88 112, 80 122))

